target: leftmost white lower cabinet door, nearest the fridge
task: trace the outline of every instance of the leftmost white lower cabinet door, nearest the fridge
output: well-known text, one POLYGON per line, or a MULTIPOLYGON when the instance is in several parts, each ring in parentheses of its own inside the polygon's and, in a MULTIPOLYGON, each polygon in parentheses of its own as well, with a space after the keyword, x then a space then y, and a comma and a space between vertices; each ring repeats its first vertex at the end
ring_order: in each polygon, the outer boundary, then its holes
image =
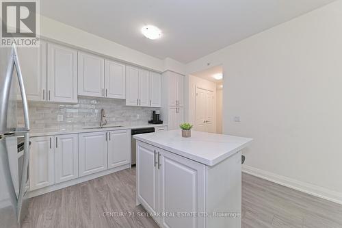
POLYGON ((36 190, 55 183, 53 136, 31 138, 29 188, 36 190))

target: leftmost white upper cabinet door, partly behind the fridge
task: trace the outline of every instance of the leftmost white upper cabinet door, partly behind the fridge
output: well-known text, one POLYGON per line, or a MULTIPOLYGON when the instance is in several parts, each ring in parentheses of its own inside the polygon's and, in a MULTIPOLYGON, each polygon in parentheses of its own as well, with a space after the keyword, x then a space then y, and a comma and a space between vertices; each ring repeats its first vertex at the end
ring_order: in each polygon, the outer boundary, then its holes
MULTIPOLYGON (((47 100, 47 42, 40 40, 40 47, 18 47, 18 58, 29 101, 47 100)), ((21 91, 17 88, 18 99, 21 91)))

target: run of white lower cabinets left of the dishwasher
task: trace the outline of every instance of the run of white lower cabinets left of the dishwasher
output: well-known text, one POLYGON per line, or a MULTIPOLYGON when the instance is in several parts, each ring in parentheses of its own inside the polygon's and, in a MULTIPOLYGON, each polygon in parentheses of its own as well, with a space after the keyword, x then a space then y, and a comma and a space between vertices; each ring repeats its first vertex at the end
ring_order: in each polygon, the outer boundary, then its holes
POLYGON ((34 196, 131 165, 130 129, 31 137, 30 140, 29 182, 34 196))

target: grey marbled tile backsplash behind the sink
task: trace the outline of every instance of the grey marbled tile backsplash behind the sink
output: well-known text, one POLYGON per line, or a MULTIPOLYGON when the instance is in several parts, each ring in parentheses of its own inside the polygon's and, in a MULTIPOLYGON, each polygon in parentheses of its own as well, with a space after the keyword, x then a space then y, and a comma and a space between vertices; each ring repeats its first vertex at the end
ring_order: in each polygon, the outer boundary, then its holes
MULTIPOLYGON (((126 106, 125 100, 79 97, 77 104, 29 101, 31 129, 92 127, 100 125, 101 108, 105 109, 107 125, 146 125, 154 107, 126 106), (63 121, 57 121, 57 116, 63 121), (137 118, 137 116, 139 118, 137 118)), ((23 125, 23 105, 18 102, 18 125, 23 125)))

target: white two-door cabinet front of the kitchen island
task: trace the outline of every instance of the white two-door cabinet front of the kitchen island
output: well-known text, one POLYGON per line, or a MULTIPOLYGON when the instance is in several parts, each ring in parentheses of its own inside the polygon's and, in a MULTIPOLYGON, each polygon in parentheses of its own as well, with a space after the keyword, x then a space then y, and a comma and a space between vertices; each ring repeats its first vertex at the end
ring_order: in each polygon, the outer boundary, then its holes
POLYGON ((205 165, 137 142, 137 201, 161 227, 205 227, 205 165), (170 216, 168 216, 170 215, 170 216))

